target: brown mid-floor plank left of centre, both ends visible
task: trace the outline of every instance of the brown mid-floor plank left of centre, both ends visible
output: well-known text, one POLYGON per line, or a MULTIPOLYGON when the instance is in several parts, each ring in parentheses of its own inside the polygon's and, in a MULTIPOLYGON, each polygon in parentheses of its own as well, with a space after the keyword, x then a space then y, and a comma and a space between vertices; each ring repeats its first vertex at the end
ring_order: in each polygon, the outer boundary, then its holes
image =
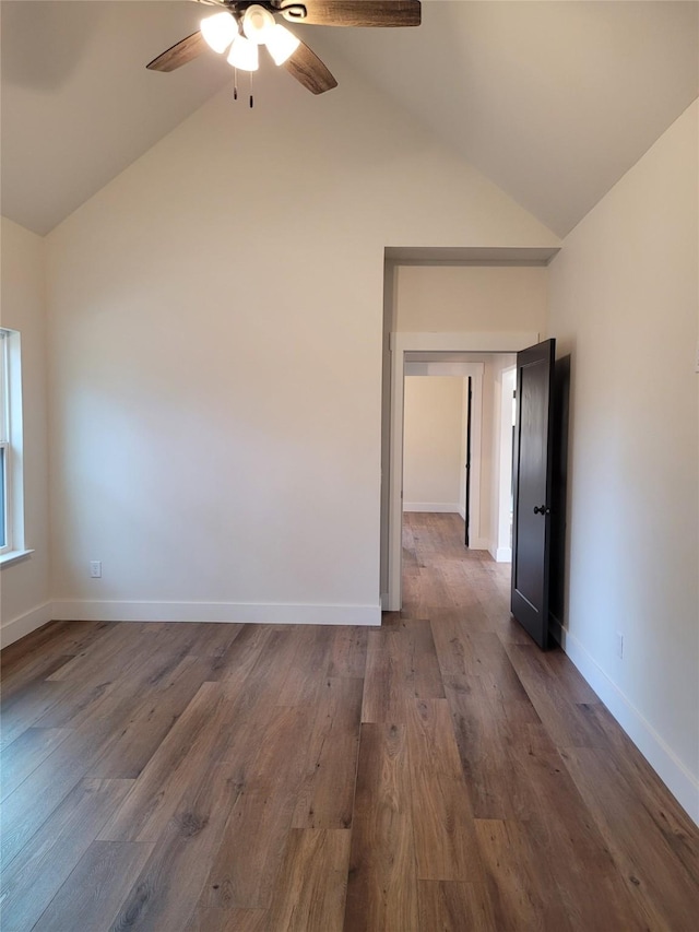
POLYGON ((364 681, 327 679, 318 697, 294 828, 350 828, 364 681))

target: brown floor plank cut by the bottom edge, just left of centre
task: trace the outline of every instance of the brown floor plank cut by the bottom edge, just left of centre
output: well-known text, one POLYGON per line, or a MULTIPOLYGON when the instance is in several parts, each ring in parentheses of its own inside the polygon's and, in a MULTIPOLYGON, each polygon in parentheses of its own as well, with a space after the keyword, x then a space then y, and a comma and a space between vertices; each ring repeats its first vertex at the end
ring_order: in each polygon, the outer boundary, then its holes
POLYGON ((345 829, 292 829, 270 906, 270 932, 342 932, 350 836, 345 829))

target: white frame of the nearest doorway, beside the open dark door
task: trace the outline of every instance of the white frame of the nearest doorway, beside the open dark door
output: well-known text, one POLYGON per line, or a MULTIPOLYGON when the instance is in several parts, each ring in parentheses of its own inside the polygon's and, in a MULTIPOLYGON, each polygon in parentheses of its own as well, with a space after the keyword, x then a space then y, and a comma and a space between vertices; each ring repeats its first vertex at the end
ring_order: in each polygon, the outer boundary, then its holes
MULTIPOLYGON (((403 400, 405 354, 518 353, 538 343, 534 331, 390 334, 391 404, 388 483, 388 592, 384 611, 400 612, 403 571, 403 400)), ((383 600, 382 600, 383 601, 383 600)))

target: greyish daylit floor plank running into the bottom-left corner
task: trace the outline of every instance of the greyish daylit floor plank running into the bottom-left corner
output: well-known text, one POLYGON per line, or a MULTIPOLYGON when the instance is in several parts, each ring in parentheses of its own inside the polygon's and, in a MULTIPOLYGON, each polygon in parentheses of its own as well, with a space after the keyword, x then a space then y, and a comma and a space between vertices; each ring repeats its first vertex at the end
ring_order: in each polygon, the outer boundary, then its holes
POLYGON ((130 780, 83 780, 45 819, 14 860, 3 861, 0 886, 3 932, 27 932, 33 928, 130 786, 130 780))

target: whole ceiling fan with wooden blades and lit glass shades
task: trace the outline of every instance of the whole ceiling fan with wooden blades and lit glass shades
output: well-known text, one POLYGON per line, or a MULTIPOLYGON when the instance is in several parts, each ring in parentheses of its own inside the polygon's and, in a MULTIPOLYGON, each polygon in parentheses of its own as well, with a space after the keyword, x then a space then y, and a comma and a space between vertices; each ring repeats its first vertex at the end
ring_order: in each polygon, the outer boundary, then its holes
MULTIPOLYGON (((196 0, 221 8, 206 16, 201 28, 176 43, 146 64, 151 71, 175 71, 206 48, 223 55, 233 68, 253 72, 259 47, 266 46, 275 64, 286 70, 312 94, 337 86, 328 68, 279 22, 315 26, 418 26, 419 0, 196 0)), ((250 99, 252 106, 252 98, 250 99)))

